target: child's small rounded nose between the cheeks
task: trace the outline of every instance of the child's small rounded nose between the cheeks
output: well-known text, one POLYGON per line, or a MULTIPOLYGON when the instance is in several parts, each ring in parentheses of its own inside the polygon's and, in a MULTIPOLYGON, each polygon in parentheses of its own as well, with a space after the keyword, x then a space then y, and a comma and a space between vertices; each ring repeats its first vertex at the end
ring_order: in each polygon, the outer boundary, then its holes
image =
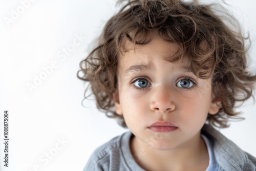
POLYGON ((174 95, 168 88, 155 88, 150 103, 152 111, 166 113, 175 110, 174 95))

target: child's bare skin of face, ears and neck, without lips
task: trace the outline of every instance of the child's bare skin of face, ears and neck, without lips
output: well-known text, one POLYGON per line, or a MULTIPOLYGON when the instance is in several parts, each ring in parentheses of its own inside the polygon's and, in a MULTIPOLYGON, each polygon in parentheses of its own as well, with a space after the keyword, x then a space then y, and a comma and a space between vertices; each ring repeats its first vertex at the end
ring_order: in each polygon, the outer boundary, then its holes
POLYGON ((216 114, 219 106, 212 101, 210 78, 189 72, 186 58, 166 61, 175 52, 175 44, 155 36, 149 44, 123 53, 113 94, 115 109, 134 134, 131 152, 142 168, 205 170, 209 157, 200 131, 208 113, 216 114), (176 129, 148 129, 157 121, 168 121, 176 129))

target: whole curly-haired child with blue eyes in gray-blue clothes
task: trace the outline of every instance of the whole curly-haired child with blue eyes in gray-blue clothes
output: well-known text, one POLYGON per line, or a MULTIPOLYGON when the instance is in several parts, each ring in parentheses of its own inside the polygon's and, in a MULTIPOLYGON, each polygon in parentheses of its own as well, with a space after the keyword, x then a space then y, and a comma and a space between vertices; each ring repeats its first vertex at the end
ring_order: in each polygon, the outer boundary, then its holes
POLYGON ((109 20, 79 78, 130 131, 97 148, 84 170, 256 170, 254 157, 211 126, 227 127, 256 81, 245 38, 213 11, 196 1, 129 1, 109 20))

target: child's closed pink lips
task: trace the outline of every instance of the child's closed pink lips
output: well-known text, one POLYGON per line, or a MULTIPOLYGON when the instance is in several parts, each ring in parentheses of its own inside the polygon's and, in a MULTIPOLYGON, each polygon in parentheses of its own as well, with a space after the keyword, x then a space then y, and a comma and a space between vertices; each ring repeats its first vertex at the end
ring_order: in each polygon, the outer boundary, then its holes
POLYGON ((162 132, 162 133, 172 132, 178 129, 177 126, 175 126, 170 122, 155 122, 152 125, 148 126, 147 128, 152 131, 162 132))

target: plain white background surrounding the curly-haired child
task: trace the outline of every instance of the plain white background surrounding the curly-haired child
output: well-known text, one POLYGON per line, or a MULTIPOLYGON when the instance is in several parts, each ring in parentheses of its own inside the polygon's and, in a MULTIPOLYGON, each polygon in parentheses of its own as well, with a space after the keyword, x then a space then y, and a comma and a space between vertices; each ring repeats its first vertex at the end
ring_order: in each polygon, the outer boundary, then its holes
MULTIPOLYGON (((0 170, 82 170, 96 147, 127 131, 97 112, 94 101, 86 101, 87 108, 81 105, 85 86, 76 77, 88 45, 116 11, 115 1, 31 0, 24 11, 21 2, 25 0, 0 2, 0 170), (7 24, 5 19, 15 11, 20 14, 7 24), (76 40, 74 51, 65 55, 63 48, 72 48, 76 36, 83 37, 81 44, 76 40), (55 68, 41 75, 45 79, 30 92, 27 84, 54 61, 55 68), (3 166, 4 110, 10 119, 8 168, 3 166), (52 154, 48 161, 47 153, 52 154)), ((251 64, 256 66, 256 3, 226 2, 250 32, 251 64)), ((232 122, 221 132, 256 156, 252 103, 240 108, 244 121, 232 122)))

